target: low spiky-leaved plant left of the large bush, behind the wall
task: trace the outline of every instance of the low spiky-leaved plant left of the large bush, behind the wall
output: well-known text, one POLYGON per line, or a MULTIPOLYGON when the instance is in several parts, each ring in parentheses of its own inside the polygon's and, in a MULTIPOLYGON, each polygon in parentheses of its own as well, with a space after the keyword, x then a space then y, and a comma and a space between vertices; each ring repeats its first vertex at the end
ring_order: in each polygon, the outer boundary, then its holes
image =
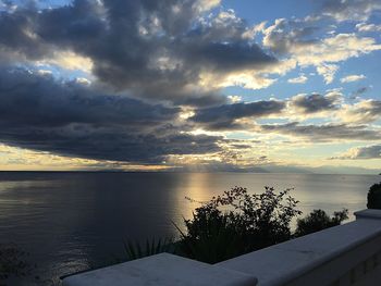
POLYGON ((124 251, 127 260, 135 260, 148 256, 153 256, 162 252, 175 252, 175 245, 173 239, 158 239, 152 238, 151 240, 146 241, 144 246, 139 243, 124 241, 124 251))

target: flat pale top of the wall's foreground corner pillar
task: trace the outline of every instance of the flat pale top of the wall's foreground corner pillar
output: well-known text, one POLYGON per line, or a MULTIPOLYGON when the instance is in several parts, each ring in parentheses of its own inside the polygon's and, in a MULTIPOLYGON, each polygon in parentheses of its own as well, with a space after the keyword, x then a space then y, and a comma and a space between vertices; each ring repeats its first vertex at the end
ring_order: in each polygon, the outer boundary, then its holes
POLYGON ((64 286, 255 286, 257 279, 234 270, 160 253, 63 279, 64 286))

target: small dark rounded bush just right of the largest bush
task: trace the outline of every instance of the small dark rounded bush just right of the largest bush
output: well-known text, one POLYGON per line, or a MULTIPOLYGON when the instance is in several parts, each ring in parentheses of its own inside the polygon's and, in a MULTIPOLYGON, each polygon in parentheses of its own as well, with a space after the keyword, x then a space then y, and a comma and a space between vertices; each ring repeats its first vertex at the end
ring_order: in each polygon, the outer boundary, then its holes
POLYGON ((323 210, 314 210, 306 217, 297 220, 295 236, 299 237, 336 226, 347 219, 348 210, 346 209, 334 212, 332 217, 330 217, 323 210))

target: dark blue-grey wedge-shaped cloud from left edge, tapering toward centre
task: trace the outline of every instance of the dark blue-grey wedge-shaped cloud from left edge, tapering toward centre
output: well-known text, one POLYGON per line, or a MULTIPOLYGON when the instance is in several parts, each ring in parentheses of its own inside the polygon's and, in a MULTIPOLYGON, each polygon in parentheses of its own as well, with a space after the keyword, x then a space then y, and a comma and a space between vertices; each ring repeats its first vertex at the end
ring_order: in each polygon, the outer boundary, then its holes
POLYGON ((173 121, 179 108, 151 105, 123 96, 103 95, 76 82, 22 69, 0 71, 0 124, 64 126, 85 124, 155 125, 173 121))

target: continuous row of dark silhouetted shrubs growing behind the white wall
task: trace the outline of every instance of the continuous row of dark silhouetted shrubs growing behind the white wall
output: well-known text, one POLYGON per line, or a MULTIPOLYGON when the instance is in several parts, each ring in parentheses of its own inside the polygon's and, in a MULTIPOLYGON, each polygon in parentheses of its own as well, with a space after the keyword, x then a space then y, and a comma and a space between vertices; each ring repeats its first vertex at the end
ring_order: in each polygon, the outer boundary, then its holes
POLYGON ((196 208, 192 219, 184 219, 185 231, 174 224, 181 235, 177 241, 152 240, 145 247, 125 244, 127 259, 171 252, 217 263, 339 225, 348 219, 347 210, 334 212, 332 217, 322 210, 315 210, 297 220, 293 234, 291 221, 302 212, 296 209, 298 201, 288 195, 291 190, 276 194, 274 188, 265 187, 265 192, 250 195, 246 188, 234 187, 196 208))

